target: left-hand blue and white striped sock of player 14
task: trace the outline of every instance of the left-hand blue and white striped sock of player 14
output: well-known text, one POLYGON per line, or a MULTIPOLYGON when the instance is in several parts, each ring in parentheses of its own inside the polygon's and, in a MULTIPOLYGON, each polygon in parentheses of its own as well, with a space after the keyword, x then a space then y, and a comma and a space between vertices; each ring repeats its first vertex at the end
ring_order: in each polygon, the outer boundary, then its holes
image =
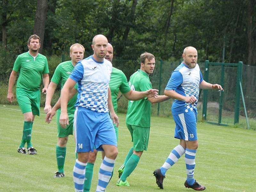
POLYGON ((82 163, 76 159, 76 163, 73 169, 73 180, 75 183, 75 191, 83 192, 84 178, 85 178, 85 166, 87 163, 82 163))

